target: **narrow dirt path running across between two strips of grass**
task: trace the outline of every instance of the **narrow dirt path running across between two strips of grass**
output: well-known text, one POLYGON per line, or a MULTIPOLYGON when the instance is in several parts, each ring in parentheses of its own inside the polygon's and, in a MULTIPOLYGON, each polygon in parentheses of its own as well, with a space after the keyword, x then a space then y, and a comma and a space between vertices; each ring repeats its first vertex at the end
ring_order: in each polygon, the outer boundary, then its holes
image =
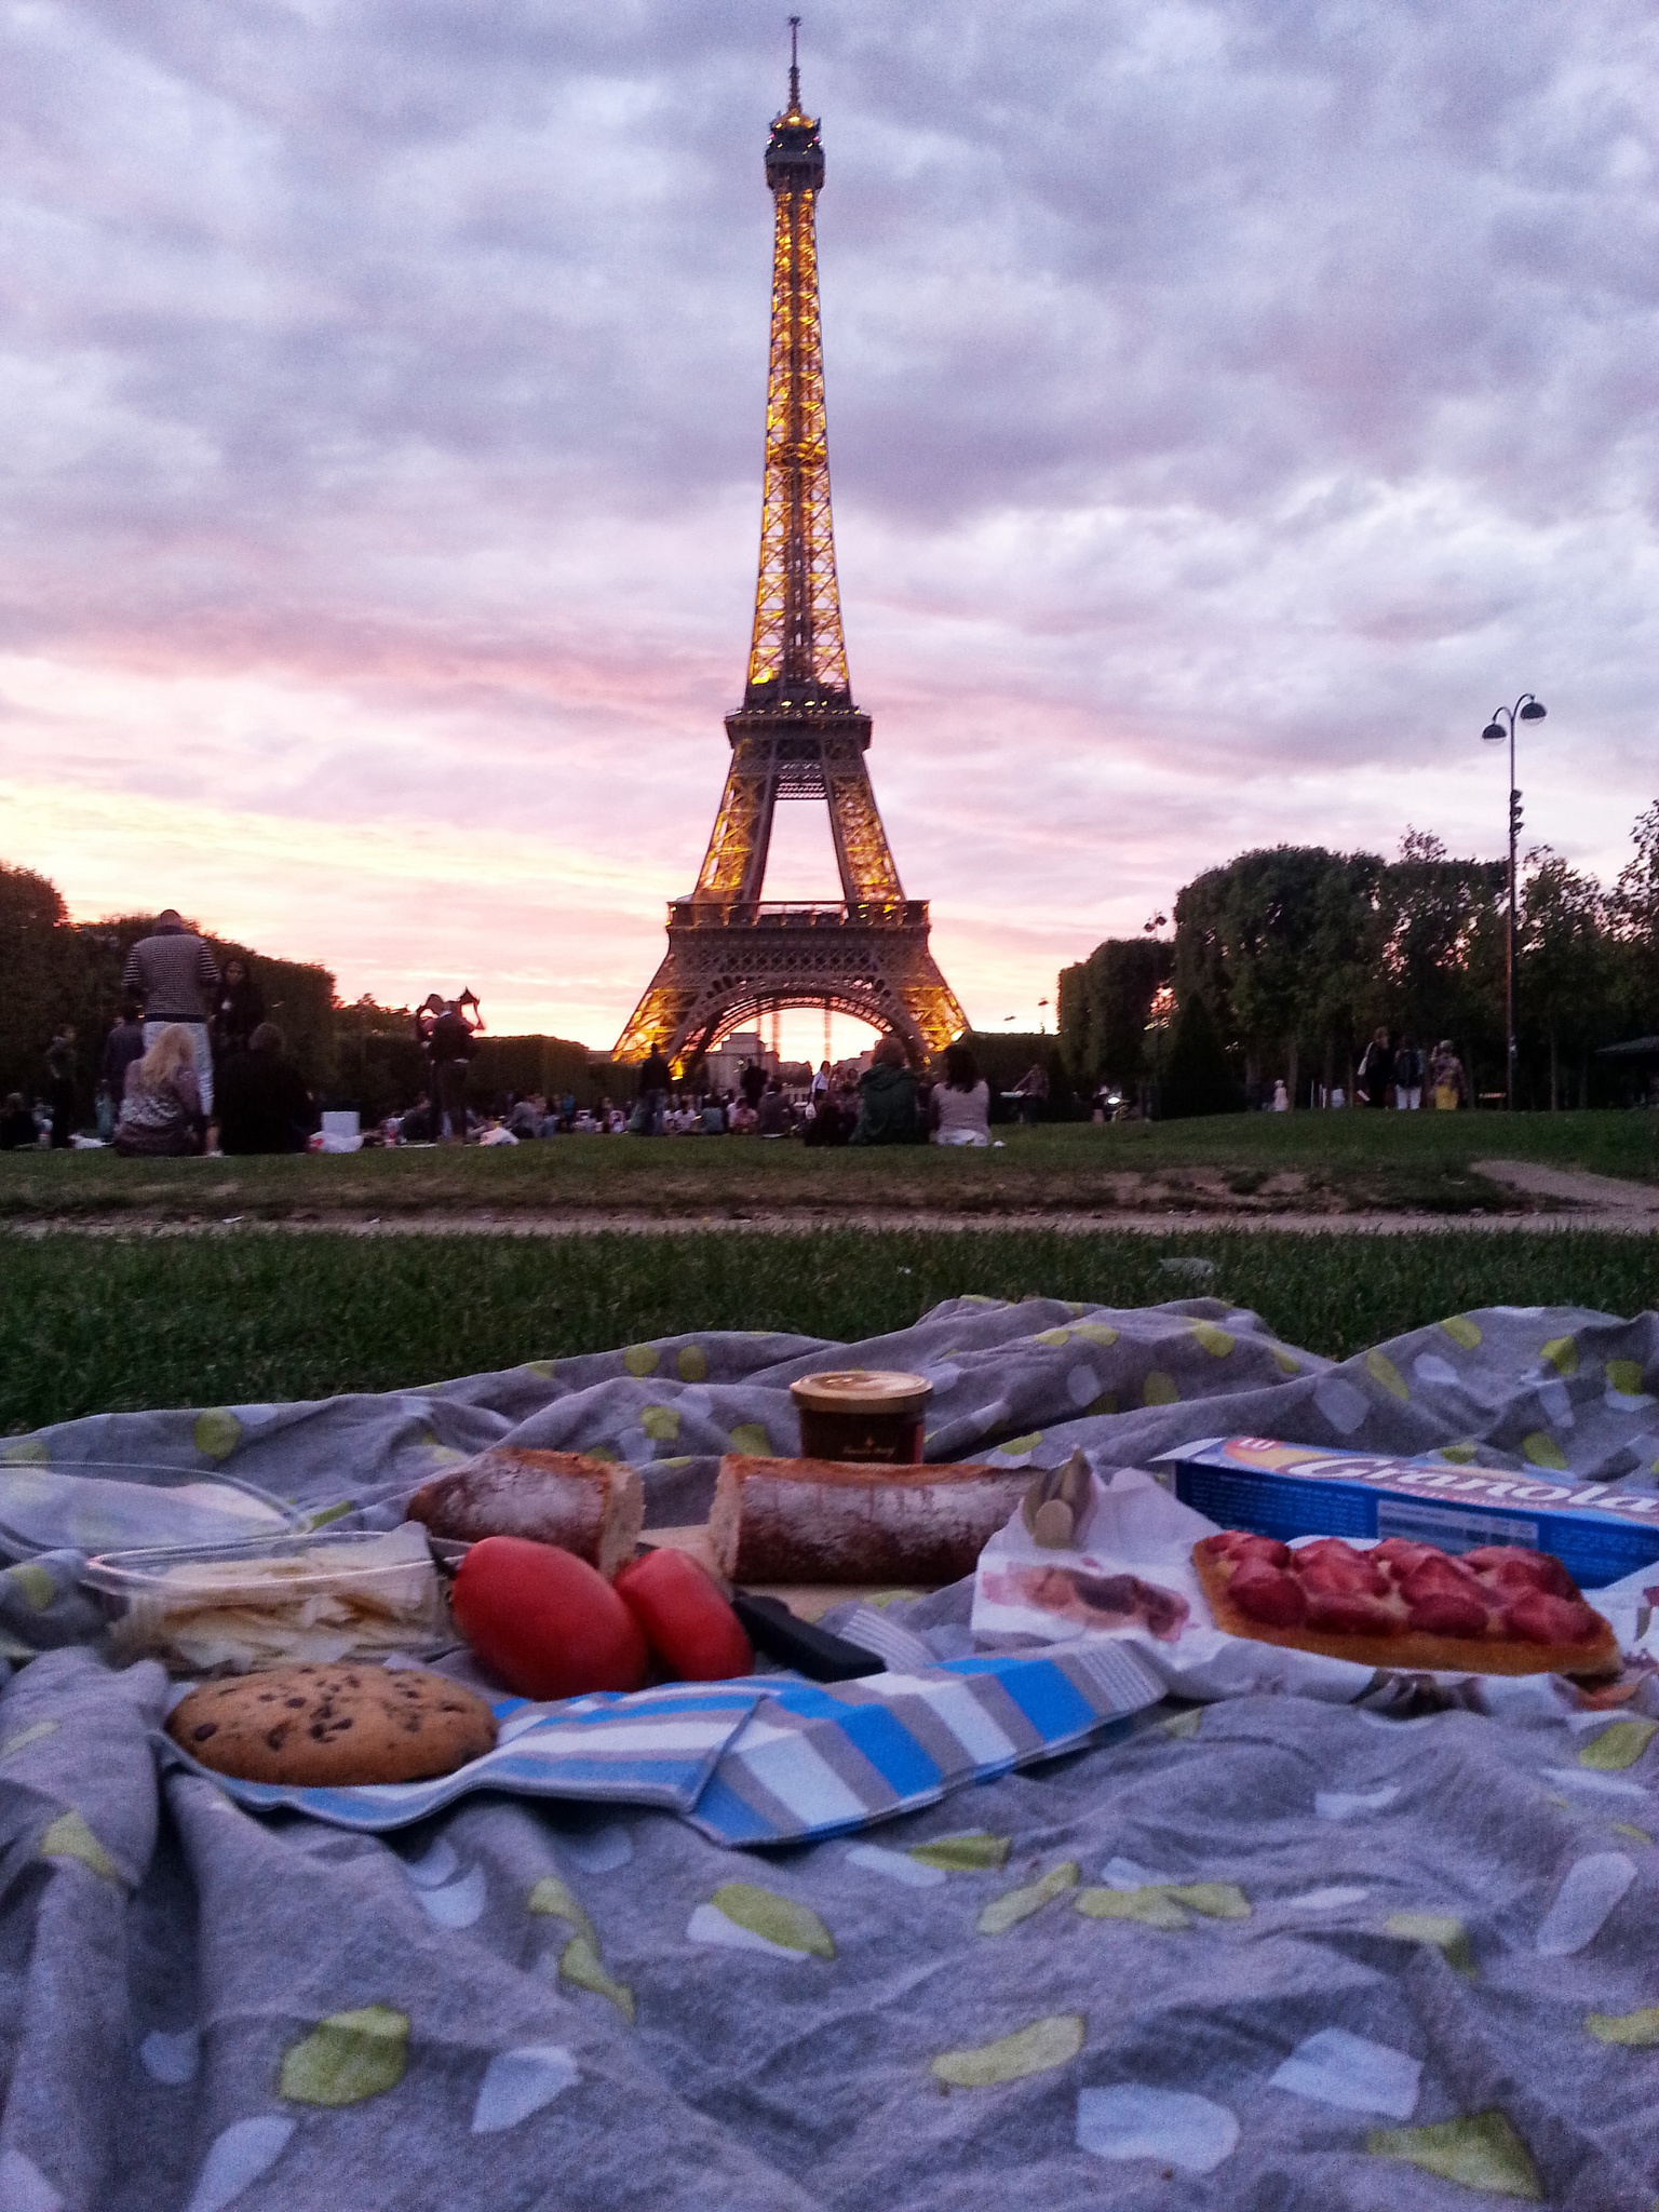
MULTIPOLYGON (((1484 1172, 1484 1170, 1482 1170, 1484 1172)), ((1533 1172, 1533 1170, 1528 1170, 1533 1172)), ((1557 1170, 1537 1170, 1555 1175, 1557 1170)), ((1608 1177, 1586 1177, 1586 1181, 1608 1181, 1608 1177)), ((1617 1186, 1639 1188, 1639 1186, 1617 1186)), ((1659 1192, 1648 1192, 1659 1201, 1659 1192)), ((1595 1230, 1599 1234, 1652 1237, 1659 1230, 1659 1206, 1639 1210, 1635 1206, 1573 1210, 1573 1212, 1517 1212, 1493 1210, 1471 1214, 1429 1212, 1369 1212, 1369 1214, 1263 1214, 1223 1210, 1177 1210, 1168 1212, 1099 1212, 1064 1214, 927 1214, 927 1212, 805 1212, 796 1208, 757 1210, 754 1214, 606 1214, 606 1212, 438 1212, 438 1214, 394 1214, 385 1221, 349 1217, 319 1217, 312 1221, 259 1221, 228 1214, 221 1221, 155 1221, 142 1214, 117 1214, 106 1221, 62 1217, 55 1221, 20 1221, 0 1237, 801 1237, 816 1230, 942 1230, 942 1232, 1048 1232, 1051 1237, 1192 1237, 1250 1230, 1256 1234, 1285 1237, 1458 1237, 1475 1230, 1484 1232, 1531 1232, 1564 1234, 1571 1230, 1595 1230)))

